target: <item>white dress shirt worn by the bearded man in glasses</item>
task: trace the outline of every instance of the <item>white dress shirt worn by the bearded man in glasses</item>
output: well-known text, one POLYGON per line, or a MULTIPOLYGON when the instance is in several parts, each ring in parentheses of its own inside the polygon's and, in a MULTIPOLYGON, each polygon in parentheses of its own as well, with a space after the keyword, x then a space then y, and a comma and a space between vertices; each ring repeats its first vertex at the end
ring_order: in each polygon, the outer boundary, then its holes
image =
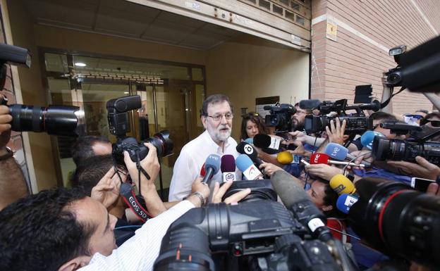
MULTIPOLYGON (((224 151, 221 146, 212 140, 208 131, 205 130, 200 136, 189 141, 183 146, 181 154, 176 160, 173 169, 173 177, 171 178, 169 201, 180 201, 185 196, 191 194, 191 185, 196 177, 200 176, 202 165, 210 154, 216 153, 219 156, 231 154, 237 158, 240 153, 236 150, 237 142, 232 137, 225 142, 224 151)), ((241 172, 236 169, 236 176, 240 179, 241 172)), ((221 170, 212 177, 212 184, 221 182, 221 170)))

